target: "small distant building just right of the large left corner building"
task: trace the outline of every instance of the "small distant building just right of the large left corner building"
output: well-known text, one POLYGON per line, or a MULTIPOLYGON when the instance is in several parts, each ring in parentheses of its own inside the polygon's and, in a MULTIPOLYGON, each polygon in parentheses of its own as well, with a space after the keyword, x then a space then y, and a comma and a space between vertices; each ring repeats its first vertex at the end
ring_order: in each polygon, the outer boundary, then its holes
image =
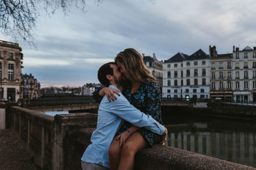
POLYGON ((22 74, 23 99, 37 99, 40 97, 40 82, 32 74, 22 74))

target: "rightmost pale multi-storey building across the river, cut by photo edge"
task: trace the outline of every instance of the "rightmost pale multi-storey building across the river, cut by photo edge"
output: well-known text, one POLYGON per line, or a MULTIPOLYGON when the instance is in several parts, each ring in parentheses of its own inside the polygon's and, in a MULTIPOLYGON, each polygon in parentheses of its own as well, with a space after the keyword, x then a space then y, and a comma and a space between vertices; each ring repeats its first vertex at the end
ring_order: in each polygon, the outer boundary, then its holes
POLYGON ((233 46, 232 90, 236 102, 256 102, 256 46, 233 46))

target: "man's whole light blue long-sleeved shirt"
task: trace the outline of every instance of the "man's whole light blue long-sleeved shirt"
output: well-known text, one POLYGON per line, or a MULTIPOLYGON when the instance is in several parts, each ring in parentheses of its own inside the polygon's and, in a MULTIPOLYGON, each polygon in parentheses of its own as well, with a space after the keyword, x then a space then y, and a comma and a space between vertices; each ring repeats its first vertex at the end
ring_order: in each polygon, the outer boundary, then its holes
MULTIPOLYGON (((113 85, 109 85, 109 87, 117 89, 113 85)), ((134 108, 122 95, 122 92, 120 92, 120 96, 116 97, 115 101, 109 102, 107 97, 104 96, 100 102, 97 129, 92 133, 92 144, 86 148, 81 158, 84 162, 100 164, 110 169, 109 146, 123 120, 138 127, 145 127, 156 134, 161 135, 164 133, 163 125, 159 124, 150 115, 145 115, 140 110, 134 108)))

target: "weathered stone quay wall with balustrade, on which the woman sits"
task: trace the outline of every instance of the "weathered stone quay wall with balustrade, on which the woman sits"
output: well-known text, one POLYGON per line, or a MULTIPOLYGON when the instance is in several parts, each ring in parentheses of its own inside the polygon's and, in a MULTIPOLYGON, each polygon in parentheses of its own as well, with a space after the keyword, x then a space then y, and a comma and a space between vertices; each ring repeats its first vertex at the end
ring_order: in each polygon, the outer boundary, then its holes
MULTIPOLYGON (((0 104, 6 121, 42 169, 81 169, 81 156, 95 130, 93 113, 51 117, 37 111, 0 104)), ((256 169, 170 146, 155 145, 136 154, 135 169, 256 169)))

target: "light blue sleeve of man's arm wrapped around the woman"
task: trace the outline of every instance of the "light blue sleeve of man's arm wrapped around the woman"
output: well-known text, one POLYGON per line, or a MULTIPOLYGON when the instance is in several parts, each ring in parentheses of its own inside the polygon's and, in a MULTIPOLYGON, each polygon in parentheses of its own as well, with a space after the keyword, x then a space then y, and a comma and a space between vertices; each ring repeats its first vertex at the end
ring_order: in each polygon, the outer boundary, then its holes
POLYGON ((132 106, 132 104, 130 104, 129 101, 127 101, 127 99, 122 95, 117 96, 117 99, 111 104, 104 105, 108 107, 105 108, 106 111, 110 111, 111 113, 123 118, 133 125, 145 127, 149 131, 156 134, 161 135, 164 133, 163 125, 159 124, 159 122, 150 117, 150 115, 146 115, 140 110, 134 108, 134 106, 132 106))

